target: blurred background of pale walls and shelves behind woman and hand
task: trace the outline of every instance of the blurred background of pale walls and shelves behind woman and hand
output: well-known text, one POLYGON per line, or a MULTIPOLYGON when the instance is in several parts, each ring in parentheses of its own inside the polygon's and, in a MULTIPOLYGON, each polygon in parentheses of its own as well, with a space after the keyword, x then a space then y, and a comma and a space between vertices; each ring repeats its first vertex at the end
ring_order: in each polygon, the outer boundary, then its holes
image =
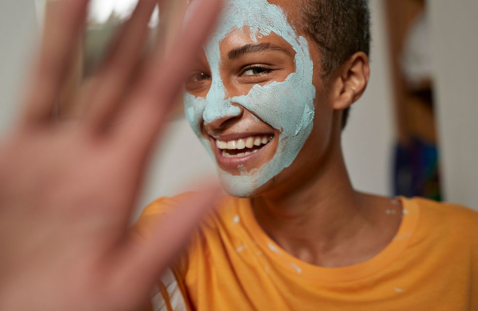
MULTIPOLYGON (((0 1, 0 135, 7 135, 19 111, 48 5, 55 1, 0 1)), ((161 12, 175 12, 173 1, 161 12)), ((128 17, 135 0, 94 0, 76 69, 60 99, 88 79, 105 42, 128 17)), ((371 80, 355 103, 343 133, 343 148, 354 186, 382 195, 424 196, 478 210, 478 1, 370 0, 371 80)), ((170 17, 175 16, 170 14, 170 17)), ((152 46, 168 15, 151 19, 152 46)), ((138 206, 194 189, 215 175, 212 160, 182 117, 180 105, 148 171, 138 206)))

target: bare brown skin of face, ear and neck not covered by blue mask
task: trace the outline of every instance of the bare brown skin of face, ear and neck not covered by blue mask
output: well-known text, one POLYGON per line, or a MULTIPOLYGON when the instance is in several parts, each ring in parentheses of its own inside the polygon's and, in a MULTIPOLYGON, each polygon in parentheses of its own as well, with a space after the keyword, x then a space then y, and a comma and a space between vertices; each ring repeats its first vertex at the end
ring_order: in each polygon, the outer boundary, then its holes
MULTIPOLYGON (((273 3, 285 11, 289 20, 299 20, 298 2, 291 2, 276 0, 273 3)), ((296 32, 306 37, 297 29, 296 32)), ((367 86, 370 75, 367 56, 355 53, 324 81, 320 76, 319 49, 314 41, 307 40, 316 88, 314 128, 292 165, 256 190, 252 205, 264 232, 288 253, 319 266, 348 266, 371 258, 390 243, 398 231, 401 206, 388 198, 355 191, 343 160, 341 113, 361 97, 367 86), (387 214, 386 210, 394 210, 395 214, 387 214)), ((258 42, 277 45, 289 53, 262 50, 230 59, 227 56, 231 51, 253 42, 246 28, 229 33, 220 43, 220 75, 226 96, 247 94, 256 83, 283 81, 295 71, 294 51, 287 42, 275 34, 258 42), (263 69, 251 71, 246 66, 251 64, 263 69)), ((211 83, 208 70, 202 55, 186 84, 186 91, 205 97, 211 83)), ((234 105, 239 107, 240 114, 203 123, 201 134, 214 149, 213 137, 273 133, 274 139, 260 156, 244 164, 248 170, 260 167, 275 154, 280 132, 258 121, 242 106, 234 105)), ((239 174, 236 167, 224 167, 219 155, 216 159, 221 169, 239 174)))

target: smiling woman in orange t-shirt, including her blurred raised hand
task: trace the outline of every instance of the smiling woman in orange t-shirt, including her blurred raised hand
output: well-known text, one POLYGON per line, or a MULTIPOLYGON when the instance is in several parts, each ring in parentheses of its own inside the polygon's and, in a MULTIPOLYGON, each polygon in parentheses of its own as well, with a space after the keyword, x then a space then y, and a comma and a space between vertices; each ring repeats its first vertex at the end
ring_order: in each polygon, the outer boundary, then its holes
MULTIPOLYGON (((129 311, 148 298, 155 311, 178 300, 178 311, 478 310, 478 214, 364 194, 350 182, 342 112, 370 74, 366 0, 307 1, 326 13, 314 20, 328 28, 311 28, 347 52, 327 79, 327 46, 299 25, 304 0, 226 0, 209 41, 219 2, 195 0, 174 48, 143 63, 156 1, 140 0, 93 85, 75 97, 85 105, 77 122, 54 112, 88 0, 56 1, 22 85, 25 112, 0 144, 0 310, 129 311), (187 77, 188 120, 224 188, 248 197, 214 203, 214 188, 162 197, 129 227, 187 77)), ((185 163, 200 164, 173 136, 183 149, 167 182, 186 167, 184 183, 194 174, 185 163)))

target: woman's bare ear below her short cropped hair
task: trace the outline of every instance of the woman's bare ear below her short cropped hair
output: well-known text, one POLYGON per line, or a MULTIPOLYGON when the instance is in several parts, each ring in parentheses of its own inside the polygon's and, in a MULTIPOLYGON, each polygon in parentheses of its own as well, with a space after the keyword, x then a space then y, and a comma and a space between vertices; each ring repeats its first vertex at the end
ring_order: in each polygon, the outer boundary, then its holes
POLYGON ((333 108, 343 110, 359 100, 370 78, 369 60, 365 53, 352 55, 337 71, 332 81, 333 108))

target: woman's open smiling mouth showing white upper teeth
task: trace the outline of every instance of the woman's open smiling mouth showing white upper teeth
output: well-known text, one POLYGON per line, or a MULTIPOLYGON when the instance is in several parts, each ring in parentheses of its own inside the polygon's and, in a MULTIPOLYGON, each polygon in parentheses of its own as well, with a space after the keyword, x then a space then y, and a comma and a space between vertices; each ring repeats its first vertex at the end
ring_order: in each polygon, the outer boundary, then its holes
POLYGON ((274 139, 273 134, 213 138, 216 144, 216 158, 223 169, 237 169, 239 165, 252 163, 253 159, 264 156, 274 139), (231 137, 236 138, 236 137, 231 137))

